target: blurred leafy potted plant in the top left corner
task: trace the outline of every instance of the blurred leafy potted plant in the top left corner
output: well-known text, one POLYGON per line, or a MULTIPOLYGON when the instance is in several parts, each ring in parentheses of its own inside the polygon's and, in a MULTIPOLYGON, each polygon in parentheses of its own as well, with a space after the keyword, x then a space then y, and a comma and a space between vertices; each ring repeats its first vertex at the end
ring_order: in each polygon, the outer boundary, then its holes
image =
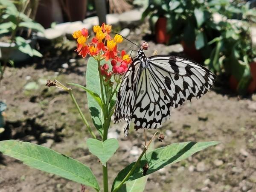
POLYGON ((7 63, 23 61, 27 57, 41 53, 35 49, 35 37, 31 30, 44 32, 44 27, 29 18, 26 12, 28 3, 15 4, 10 0, 0 0, 0 80, 7 63), (12 61, 13 60, 13 61, 12 61))

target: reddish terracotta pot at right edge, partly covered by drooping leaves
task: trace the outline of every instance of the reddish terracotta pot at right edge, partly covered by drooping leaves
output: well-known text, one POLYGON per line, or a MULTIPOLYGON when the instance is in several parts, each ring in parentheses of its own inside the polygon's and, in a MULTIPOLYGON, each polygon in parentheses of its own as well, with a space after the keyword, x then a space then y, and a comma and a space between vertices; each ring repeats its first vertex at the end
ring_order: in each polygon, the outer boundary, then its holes
MULTIPOLYGON (((250 81, 250 84, 247 87, 247 93, 252 94, 256 92, 256 62, 250 63, 250 72, 252 80, 250 81)), ((229 85, 232 90, 237 91, 238 81, 233 75, 230 76, 229 85)))

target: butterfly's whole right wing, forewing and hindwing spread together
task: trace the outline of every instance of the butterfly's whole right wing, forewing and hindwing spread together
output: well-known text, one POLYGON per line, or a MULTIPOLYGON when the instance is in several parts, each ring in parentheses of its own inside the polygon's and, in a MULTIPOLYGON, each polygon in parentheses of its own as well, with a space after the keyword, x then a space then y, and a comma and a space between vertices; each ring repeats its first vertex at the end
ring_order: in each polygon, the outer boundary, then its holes
POLYGON ((140 128, 157 128, 176 108, 205 94, 215 80, 208 69, 185 58, 155 55, 141 73, 137 99, 131 116, 140 128))

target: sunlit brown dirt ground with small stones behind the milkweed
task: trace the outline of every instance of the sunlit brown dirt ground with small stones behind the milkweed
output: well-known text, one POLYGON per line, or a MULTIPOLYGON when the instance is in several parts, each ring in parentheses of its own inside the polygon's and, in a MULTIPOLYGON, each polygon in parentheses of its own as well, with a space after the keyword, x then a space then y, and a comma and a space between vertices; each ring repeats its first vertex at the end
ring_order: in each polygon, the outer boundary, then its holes
MULTIPOLYGON (((151 55, 183 55, 180 45, 155 44, 145 26, 131 29, 129 39, 140 44, 149 41, 151 55)), ((70 96, 47 79, 85 85, 86 61, 73 52, 75 43, 65 40, 41 45, 44 58, 8 67, 0 85, 0 100, 7 103, 6 131, 0 140, 18 139, 51 147, 89 166, 102 185, 102 166, 88 151, 89 134, 70 96), (66 65, 66 64, 67 65, 66 65), (65 65, 63 65, 65 64, 65 65), (67 67, 68 66, 68 67, 67 67), (34 81, 37 89, 26 86, 34 81)), ((129 42, 121 48, 132 46, 129 42)), ((222 143, 207 148, 187 160, 166 166, 150 175, 145 192, 256 192, 256 94, 239 97, 219 77, 215 87, 201 99, 185 102, 173 109, 171 119, 160 130, 166 138, 156 146, 183 141, 222 143)), ((73 87, 74 95, 89 119, 86 95, 73 87)), ((111 125, 110 134, 119 140, 119 149, 109 160, 109 183, 116 174, 136 160, 143 149, 143 131, 131 130, 124 138, 123 125, 111 125)), ((148 138, 155 130, 147 131, 148 138)), ((89 191, 93 189, 88 188, 89 191)), ((0 192, 79 192, 70 180, 30 168, 20 161, 0 154, 0 192)))

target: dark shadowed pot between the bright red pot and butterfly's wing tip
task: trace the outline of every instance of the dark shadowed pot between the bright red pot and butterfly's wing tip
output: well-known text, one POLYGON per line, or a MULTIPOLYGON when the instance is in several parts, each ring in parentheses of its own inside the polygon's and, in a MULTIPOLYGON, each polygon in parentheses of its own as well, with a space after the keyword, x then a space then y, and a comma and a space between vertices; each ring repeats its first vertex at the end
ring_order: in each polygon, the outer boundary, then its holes
POLYGON ((188 55, 190 58, 197 62, 203 61, 203 57, 201 55, 201 52, 195 48, 195 42, 193 42, 191 45, 187 44, 184 40, 180 41, 180 44, 183 47, 183 51, 186 55, 188 55))

